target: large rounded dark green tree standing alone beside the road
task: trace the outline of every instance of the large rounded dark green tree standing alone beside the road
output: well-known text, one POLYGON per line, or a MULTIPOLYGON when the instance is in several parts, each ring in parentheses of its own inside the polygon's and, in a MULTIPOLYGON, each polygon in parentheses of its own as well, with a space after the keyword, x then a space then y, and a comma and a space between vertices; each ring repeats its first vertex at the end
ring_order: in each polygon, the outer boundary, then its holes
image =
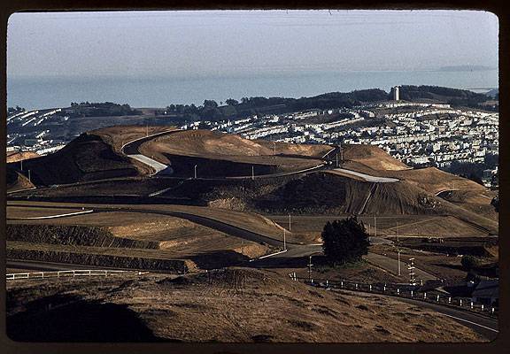
POLYGON ((322 230, 322 249, 328 261, 334 265, 359 261, 368 253, 367 231, 355 216, 334 220, 322 230))

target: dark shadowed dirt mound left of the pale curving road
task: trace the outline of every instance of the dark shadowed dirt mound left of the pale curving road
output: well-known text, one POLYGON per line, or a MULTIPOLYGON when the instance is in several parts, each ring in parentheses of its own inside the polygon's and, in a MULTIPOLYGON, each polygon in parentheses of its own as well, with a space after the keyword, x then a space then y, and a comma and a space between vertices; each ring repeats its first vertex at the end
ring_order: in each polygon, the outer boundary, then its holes
POLYGON ((83 134, 54 154, 31 158, 23 169, 36 185, 65 184, 139 175, 135 162, 120 155, 100 135, 83 134))

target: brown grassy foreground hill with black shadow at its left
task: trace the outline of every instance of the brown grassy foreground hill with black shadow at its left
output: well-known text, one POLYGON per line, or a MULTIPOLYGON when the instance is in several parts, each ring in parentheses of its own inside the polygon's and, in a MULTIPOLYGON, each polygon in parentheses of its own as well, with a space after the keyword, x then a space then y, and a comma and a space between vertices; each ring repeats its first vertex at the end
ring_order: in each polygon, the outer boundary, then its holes
POLYGON ((7 334, 34 342, 483 342, 437 312, 245 268, 46 280, 43 288, 10 282, 7 334))

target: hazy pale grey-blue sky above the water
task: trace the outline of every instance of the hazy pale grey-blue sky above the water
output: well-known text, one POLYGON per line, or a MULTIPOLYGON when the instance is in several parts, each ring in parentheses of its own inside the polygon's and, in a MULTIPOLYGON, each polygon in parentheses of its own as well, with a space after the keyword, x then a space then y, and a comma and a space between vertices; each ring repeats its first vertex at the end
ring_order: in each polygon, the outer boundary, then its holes
POLYGON ((498 18, 467 11, 16 13, 7 73, 213 76, 498 66, 498 18))

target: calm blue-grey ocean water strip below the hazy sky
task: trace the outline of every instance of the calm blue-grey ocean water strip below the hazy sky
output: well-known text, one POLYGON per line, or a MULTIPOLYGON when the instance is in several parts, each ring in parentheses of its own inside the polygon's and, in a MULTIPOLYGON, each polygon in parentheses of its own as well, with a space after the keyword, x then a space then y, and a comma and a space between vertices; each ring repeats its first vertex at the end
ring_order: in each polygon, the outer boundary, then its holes
POLYGON ((497 70, 280 73, 208 77, 8 77, 7 104, 27 109, 64 107, 71 102, 105 102, 133 107, 225 102, 244 96, 315 96, 396 85, 456 89, 498 88, 497 70))

